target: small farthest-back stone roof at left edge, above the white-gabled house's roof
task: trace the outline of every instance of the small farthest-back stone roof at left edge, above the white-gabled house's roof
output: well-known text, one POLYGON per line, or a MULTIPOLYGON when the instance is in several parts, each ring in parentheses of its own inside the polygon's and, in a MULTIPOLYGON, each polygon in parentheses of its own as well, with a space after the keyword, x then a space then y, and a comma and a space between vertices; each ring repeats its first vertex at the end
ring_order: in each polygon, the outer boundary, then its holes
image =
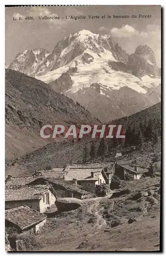
POLYGON ((27 176, 27 177, 12 177, 10 176, 6 180, 6 187, 12 187, 12 186, 25 186, 29 184, 30 182, 34 181, 36 177, 27 176))

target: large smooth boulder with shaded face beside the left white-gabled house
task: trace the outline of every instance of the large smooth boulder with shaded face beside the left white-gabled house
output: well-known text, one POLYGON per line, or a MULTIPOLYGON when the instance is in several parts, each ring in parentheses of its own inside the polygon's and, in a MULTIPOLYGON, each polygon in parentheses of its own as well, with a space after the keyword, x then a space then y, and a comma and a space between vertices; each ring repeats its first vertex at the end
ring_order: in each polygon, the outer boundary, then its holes
POLYGON ((69 211, 77 209, 86 203, 77 198, 58 198, 55 204, 58 211, 69 211))

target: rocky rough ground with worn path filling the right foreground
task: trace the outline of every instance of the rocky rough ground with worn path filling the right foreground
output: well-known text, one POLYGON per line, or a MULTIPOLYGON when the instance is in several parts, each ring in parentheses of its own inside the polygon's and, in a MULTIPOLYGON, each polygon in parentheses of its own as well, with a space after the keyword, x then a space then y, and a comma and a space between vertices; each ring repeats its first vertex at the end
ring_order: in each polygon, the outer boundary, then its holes
POLYGON ((160 208, 156 181, 159 181, 158 178, 131 181, 131 195, 114 199, 110 199, 110 195, 85 199, 85 204, 80 208, 64 212, 55 220, 48 219, 50 230, 46 230, 48 227, 45 226, 46 232, 39 234, 41 250, 157 251, 160 208), (140 200, 131 200, 131 196, 135 195, 140 187, 143 187, 143 191, 154 193, 153 196, 143 193, 140 200), (146 212, 145 207, 148 207, 146 212), (131 217, 136 221, 128 223, 131 217), (112 227, 113 220, 122 220, 122 223, 112 227))

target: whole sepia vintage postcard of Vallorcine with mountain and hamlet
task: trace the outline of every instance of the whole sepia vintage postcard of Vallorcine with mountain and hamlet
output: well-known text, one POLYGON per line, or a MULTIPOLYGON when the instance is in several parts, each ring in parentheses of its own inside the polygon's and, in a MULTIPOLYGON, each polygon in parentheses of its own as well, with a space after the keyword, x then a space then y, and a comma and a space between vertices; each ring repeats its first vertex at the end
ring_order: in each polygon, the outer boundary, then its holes
POLYGON ((5 11, 5 249, 161 251, 161 6, 5 11))

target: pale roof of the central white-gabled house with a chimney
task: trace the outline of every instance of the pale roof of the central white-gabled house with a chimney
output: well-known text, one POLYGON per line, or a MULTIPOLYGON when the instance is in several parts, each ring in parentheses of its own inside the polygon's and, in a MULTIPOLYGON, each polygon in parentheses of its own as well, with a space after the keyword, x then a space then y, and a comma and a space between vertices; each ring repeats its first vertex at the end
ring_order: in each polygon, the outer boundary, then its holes
POLYGON ((65 180, 98 180, 103 168, 69 168, 65 180), (93 177, 91 176, 93 173, 93 177))

